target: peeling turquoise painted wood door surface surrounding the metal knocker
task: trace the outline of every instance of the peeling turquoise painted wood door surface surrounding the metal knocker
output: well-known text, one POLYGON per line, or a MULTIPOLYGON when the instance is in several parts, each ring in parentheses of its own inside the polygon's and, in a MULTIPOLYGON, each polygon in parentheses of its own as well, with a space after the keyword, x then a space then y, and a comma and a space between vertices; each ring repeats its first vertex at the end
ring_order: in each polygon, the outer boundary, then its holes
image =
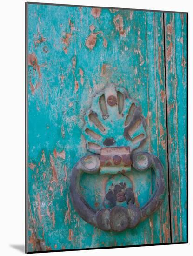
MULTIPOLYGON (((29 3, 27 19, 27 251, 186 241, 185 144, 179 158, 175 157, 176 147, 186 141, 186 15, 182 19, 180 14, 162 12, 29 3), (172 19, 175 34, 166 29, 172 19), (180 38, 184 38, 184 47, 180 38), (179 48, 165 62, 169 40, 179 48), (160 209, 136 228, 120 233, 102 231, 82 220, 69 192, 73 166, 88 154, 83 136, 85 116, 93 96, 108 84, 125 88, 139 102, 147 138, 137 151, 158 156, 166 176, 166 197, 160 209), (178 111, 181 119, 176 119, 178 111), (171 137, 172 149, 167 145, 171 137), (173 179, 178 181, 176 186, 173 179), (178 231, 176 222, 181 223, 178 231)), ((112 134, 117 135, 118 127, 115 123, 112 134)), ((108 174, 82 176, 81 192, 91 207, 103 208, 105 186, 111 179, 108 174)), ((124 179, 133 185, 136 205, 143 206, 153 195, 151 169, 138 173, 132 168, 124 179)))

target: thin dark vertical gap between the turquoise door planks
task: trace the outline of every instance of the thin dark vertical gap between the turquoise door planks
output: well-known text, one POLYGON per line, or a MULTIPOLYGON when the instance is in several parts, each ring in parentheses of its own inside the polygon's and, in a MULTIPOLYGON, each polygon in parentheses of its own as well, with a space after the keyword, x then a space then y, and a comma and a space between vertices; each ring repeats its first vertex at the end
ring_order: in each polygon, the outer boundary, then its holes
POLYGON ((170 222, 170 241, 173 242, 172 237, 172 222, 171 222, 171 202, 170 202, 170 174, 169 174, 169 154, 168 154, 168 116, 167 116, 167 87, 166 87, 166 31, 165 31, 165 13, 163 13, 163 33, 164 33, 164 76, 165 76, 165 94, 166 94, 166 131, 167 131, 167 148, 166 148, 166 154, 167 154, 167 178, 168 178, 168 203, 169 203, 169 222, 170 222))

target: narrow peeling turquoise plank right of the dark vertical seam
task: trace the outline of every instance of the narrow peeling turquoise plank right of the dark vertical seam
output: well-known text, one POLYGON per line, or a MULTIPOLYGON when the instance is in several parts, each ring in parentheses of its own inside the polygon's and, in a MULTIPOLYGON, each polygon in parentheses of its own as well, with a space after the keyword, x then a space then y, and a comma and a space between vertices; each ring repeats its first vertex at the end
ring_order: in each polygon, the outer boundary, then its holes
POLYGON ((165 13, 166 92, 172 241, 187 241, 187 16, 165 13))

